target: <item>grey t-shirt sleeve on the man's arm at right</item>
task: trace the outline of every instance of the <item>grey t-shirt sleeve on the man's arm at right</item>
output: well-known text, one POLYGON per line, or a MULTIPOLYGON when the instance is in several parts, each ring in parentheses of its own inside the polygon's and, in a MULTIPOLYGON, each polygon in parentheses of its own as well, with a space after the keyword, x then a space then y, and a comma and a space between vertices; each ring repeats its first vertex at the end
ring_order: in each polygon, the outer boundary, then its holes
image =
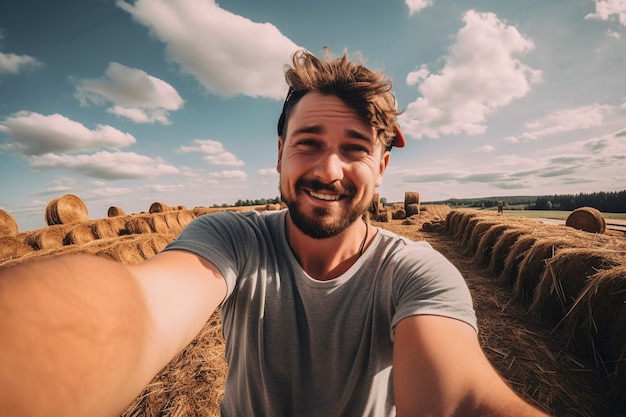
POLYGON ((414 315, 450 317, 478 331, 467 284, 448 259, 425 243, 409 244, 396 256, 392 339, 398 322, 414 315))

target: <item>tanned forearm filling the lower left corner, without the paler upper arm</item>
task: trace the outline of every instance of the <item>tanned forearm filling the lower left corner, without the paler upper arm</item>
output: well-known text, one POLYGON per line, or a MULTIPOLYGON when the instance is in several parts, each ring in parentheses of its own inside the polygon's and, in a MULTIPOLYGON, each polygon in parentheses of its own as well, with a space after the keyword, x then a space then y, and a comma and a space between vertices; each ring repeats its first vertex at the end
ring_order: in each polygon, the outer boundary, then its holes
POLYGON ((151 332, 121 264, 73 256, 0 269, 0 409, 119 414, 152 376, 151 332))

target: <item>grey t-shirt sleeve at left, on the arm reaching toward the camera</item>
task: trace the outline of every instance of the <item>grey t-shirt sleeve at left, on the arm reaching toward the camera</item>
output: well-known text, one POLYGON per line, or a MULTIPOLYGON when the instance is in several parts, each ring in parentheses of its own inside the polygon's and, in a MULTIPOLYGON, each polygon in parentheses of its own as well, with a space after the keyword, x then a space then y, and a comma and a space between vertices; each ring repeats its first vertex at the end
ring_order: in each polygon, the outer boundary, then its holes
POLYGON ((228 298, 243 270, 254 241, 246 219, 231 212, 207 214, 194 219, 164 250, 185 250, 203 257, 226 280, 228 298))

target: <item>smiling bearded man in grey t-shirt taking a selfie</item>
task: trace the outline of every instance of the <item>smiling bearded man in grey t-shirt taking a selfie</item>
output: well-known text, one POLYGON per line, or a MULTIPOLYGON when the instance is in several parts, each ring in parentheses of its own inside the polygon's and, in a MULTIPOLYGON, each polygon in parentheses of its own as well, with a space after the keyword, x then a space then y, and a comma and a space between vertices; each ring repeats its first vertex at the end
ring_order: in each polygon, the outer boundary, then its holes
POLYGON ((482 353, 458 270, 364 219, 405 144, 391 81, 307 52, 286 80, 288 210, 200 217, 136 266, 0 271, 0 409, 115 416, 221 308, 226 417, 544 415, 482 353))

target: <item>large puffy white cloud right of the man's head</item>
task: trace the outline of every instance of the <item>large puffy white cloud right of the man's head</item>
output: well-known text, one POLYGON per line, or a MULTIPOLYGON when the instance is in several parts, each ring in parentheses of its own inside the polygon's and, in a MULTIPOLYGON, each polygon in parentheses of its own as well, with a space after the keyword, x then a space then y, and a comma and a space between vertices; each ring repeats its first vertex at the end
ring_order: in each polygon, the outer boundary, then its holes
POLYGON ((541 71, 515 58, 534 48, 515 27, 493 13, 473 10, 463 20, 465 27, 458 32, 441 72, 429 74, 422 67, 407 77, 409 82, 425 77, 418 88, 422 97, 399 117, 410 136, 481 134, 488 115, 541 81, 541 71))

